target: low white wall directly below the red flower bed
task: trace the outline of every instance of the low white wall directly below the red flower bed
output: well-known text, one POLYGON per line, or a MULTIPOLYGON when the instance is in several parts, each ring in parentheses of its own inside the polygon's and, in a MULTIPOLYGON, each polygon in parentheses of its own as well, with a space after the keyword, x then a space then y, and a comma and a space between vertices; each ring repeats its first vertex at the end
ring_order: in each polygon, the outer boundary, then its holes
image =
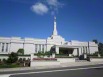
POLYGON ((58 61, 31 61, 30 66, 52 66, 52 65, 60 65, 58 61))

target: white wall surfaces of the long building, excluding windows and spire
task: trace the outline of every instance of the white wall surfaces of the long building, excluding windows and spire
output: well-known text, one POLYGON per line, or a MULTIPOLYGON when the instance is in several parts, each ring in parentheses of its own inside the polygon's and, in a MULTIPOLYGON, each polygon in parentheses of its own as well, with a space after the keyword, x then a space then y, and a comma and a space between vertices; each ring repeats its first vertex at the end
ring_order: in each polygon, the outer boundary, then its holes
MULTIPOLYGON (((47 47, 45 47, 45 51, 50 51, 52 46, 63 45, 63 42, 65 41, 64 38, 62 38, 61 36, 51 36, 48 39, 35 39, 35 38, 21 39, 20 37, 11 37, 11 38, 0 37, 0 43, 9 43, 10 52, 17 52, 18 49, 24 48, 25 54, 35 53, 35 44, 42 44, 42 45, 45 44, 47 45, 47 47)), ((88 46, 88 42, 71 41, 69 42, 69 45, 67 44, 66 46, 78 47, 78 48, 83 46, 86 47, 88 46)), ((90 46, 90 53, 94 53, 95 51, 98 51, 98 46, 94 42, 89 42, 89 46, 90 46)), ((81 49, 79 49, 79 52, 81 54, 81 49)), ((9 53, 9 51, 1 52, 1 48, 0 48, 0 54, 6 54, 6 53, 9 53)), ((74 49, 73 54, 77 55, 77 49, 74 49)))

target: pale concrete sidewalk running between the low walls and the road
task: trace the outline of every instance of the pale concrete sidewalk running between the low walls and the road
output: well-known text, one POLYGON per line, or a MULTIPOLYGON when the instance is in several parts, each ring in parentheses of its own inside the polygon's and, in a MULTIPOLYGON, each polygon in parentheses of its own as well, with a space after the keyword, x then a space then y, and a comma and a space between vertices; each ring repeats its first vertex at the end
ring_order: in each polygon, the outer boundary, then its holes
POLYGON ((34 70, 34 69, 50 69, 50 68, 60 68, 60 67, 76 67, 76 66, 88 66, 88 65, 98 65, 103 64, 103 62, 71 62, 71 63, 61 63, 59 66, 39 66, 39 67, 21 67, 21 68, 3 68, 0 72, 7 71, 23 71, 23 70, 34 70))

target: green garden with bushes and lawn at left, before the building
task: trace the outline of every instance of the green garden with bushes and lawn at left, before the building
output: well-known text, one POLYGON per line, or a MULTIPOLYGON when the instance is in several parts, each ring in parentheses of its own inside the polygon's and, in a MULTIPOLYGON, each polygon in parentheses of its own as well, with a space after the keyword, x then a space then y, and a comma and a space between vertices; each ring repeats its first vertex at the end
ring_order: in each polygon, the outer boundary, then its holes
MULTIPOLYGON (((18 56, 25 56, 23 50, 18 50, 17 53, 1 54, 0 56, 7 56, 7 59, 0 59, 0 68, 16 68, 16 67, 28 67, 30 66, 30 59, 19 58, 18 56)), ((28 55, 30 56, 30 55, 28 55)))

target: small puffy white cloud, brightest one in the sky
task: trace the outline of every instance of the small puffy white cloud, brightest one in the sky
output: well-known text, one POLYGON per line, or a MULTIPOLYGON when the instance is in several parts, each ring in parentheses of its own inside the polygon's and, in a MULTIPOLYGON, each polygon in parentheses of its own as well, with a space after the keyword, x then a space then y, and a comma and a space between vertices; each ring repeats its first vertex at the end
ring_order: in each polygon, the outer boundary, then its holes
POLYGON ((49 10, 45 4, 40 3, 40 2, 32 5, 31 9, 33 12, 39 15, 46 14, 49 10))

